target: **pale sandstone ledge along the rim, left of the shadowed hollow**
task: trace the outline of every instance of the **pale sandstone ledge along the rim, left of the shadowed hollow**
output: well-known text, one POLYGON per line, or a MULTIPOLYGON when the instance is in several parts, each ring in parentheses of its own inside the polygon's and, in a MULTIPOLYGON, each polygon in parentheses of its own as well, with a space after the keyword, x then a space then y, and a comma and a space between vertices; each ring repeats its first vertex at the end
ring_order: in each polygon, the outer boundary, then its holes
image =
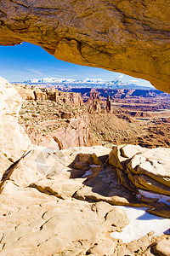
MULTIPOLYGON (((15 184, 21 188, 26 188, 31 183, 35 183, 44 177, 82 177, 84 171, 94 168, 94 172, 99 172, 100 169, 97 166, 92 166, 87 162, 76 162, 74 168, 80 169, 76 172, 72 169, 71 164, 74 162, 77 154, 82 151, 85 158, 90 156, 90 154, 85 154, 85 152, 92 152, 94 159, 97 161, 97 155, 93 154, 95 151, 97 154, 102 154, 102 152, 111 151, 108 148, 103 147, 91 147, 91 148, 68 148, 64 150, 53 150, 50 148, 43 148, 39 146, 31 146, 30 151, 20 159, 20 161, 12 166, 10 170, 4 175, 4 179, 12 180, 15 184), (83 171, 83 172, 82 172, 83 171)), ((91 160, 93 158, 90 156, 91 160)), ((99 161, 99 160, 98 160, 99 161)), ((5 170, 4 170, 5 171, 5 170)), ((76 191, 75 191, 76 192, 76 191)))

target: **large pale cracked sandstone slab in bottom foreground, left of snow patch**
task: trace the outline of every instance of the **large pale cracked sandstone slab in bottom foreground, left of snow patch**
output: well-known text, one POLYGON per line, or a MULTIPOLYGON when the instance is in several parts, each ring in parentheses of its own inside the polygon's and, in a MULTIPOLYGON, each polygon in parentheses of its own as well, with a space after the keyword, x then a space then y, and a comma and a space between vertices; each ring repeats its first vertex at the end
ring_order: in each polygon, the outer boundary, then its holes
POLYGON ((105 202, 56 201, 53 195, 20 189, 11 181, 3 183, 0 197, 2 255, 44 255, 44 250, 47 255, 86 254, 128 223, 122 210, 105 202))

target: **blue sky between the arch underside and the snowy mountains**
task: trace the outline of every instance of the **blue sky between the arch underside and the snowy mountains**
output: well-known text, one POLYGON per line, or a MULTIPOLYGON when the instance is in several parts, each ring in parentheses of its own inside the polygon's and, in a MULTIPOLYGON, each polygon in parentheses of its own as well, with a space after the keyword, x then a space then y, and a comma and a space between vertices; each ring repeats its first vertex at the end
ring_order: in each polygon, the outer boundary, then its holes
POLYGON ((148 81, 135 79, 122 73, 59 61, 41 47, 29 43, 0 46, 0 76, 9 82, 42 78, 99 78, 104 80, 121 79, 124 82, 150 86, 148 81))

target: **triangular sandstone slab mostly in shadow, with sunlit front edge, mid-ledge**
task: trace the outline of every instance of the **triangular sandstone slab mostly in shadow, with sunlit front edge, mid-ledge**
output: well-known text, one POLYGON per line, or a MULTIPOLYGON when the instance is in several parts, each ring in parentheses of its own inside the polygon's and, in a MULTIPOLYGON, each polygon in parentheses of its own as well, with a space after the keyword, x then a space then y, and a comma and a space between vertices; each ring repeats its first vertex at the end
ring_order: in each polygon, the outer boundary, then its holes
POLYGON ((129 190, 118 187, 116 170, 112 166, 104 166, 97 177, 83 182, 82 189, 77 190, 74 197, 79 200, 106 201, 111 205, 144 206, 129 190))

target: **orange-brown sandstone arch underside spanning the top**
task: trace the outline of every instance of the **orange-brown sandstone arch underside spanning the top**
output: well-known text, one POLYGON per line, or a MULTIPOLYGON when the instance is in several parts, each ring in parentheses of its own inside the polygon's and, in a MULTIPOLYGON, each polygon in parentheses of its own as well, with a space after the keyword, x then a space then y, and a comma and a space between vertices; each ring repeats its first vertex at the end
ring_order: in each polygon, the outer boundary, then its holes
POLYGON ((170 92, 170 1, 1 0, 0 44, 150 80, 170 92))

